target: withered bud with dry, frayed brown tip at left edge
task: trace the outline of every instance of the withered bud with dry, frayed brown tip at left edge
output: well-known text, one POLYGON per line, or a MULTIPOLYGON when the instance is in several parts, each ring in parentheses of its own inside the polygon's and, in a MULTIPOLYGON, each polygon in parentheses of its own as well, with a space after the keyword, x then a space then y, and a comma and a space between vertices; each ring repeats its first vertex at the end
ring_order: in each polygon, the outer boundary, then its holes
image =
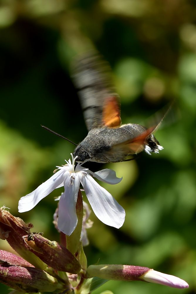
POLYGON ((6 211, 5 207, 0 208, 0 239, 7 240, 19 255, 36 268, 45 269, 47 265, 29 252, 23 243, 22 237, 31 234, 30 228, 33 228, 31 223, 26 224, 21 218, 16 218, 6 211))

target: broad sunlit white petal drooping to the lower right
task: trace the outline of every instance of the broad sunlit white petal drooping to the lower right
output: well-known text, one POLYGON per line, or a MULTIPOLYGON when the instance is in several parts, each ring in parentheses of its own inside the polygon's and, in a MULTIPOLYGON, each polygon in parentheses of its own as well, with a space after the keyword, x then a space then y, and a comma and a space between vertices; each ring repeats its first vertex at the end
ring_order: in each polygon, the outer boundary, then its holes
POLYGON ((125 219, 124 208, 88 174, 80 173, 80 181, 97 218, 106 225, 120 228, 125 219))

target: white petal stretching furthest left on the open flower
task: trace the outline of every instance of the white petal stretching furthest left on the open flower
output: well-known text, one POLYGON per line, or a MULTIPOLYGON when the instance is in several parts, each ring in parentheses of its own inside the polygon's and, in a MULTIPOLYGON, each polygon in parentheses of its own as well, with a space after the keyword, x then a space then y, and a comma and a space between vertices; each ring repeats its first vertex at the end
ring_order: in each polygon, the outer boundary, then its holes
POLYGON ((40 200, 50 194, 56 187, 58 187, 64 180, 65 174, 68 171, 65 171, 63 168, 57 171, 53 176, 51 176, 47 181, 42 183, 36 190, 27 194, 26 196, 21 197, 18 202, 18 211, 25 212, 31 210, 35 207, 40 200))

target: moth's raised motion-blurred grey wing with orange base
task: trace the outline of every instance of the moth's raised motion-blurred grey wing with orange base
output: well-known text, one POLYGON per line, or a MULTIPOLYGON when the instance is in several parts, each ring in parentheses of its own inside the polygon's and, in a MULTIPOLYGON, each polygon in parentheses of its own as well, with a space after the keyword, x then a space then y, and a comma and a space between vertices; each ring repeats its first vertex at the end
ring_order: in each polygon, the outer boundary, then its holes
POLYGON ((109 65, 96 53, 87 54, 77 60, 73 71, 87 130, 119 127, 120 98, 112 86, 109 65))

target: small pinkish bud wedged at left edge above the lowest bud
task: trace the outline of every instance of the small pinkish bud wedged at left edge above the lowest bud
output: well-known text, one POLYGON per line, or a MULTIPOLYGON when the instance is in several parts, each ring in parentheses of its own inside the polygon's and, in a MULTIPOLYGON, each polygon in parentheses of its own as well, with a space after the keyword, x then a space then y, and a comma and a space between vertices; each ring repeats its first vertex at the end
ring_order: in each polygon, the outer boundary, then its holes
POLYGON ((24 260, 22 257, 17 256, 13 253, 0 250, 0 260, 6 261, 9 265, 18 265, 18 266, 25 266, 25 267, 33 267, 34 266, 29 263, 28 261, 24 260))

